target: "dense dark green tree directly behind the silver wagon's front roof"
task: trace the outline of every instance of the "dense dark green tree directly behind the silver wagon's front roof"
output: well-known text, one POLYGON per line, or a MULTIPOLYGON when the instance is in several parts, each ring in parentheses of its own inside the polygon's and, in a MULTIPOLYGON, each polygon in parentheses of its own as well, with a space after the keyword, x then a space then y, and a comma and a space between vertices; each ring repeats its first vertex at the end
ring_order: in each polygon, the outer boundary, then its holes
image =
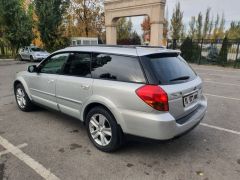
POLYGON ((68 45, 69 40, 63 36, 63 19, 68 5, 69 0, 35 0, 38 30, 45 48, 49 51, 68 45))

